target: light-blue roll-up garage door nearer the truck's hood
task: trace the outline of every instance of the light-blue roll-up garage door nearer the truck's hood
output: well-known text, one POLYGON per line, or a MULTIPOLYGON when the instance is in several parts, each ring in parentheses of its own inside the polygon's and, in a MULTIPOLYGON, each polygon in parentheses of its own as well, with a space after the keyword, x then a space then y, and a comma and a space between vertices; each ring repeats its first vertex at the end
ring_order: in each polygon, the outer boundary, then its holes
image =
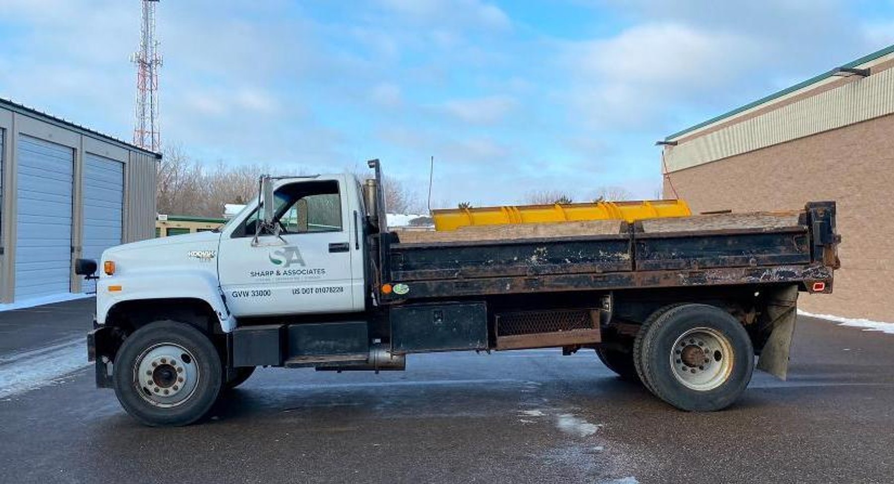
MULTIPOLYGON (((124 163, 96 154, 84 156, 84 229, 81 256, 99 261, 103 251, 122 241, 124 163)), ((84 292, 96 290, 85 281, 84 292)))

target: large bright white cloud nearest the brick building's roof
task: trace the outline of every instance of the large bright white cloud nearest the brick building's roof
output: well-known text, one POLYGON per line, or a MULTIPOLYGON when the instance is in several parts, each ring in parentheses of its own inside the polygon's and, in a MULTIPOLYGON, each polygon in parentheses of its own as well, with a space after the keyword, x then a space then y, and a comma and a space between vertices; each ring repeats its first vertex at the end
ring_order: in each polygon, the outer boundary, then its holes
POLYGON ((596 127, 642 125, 668 99, 726 86, 754 66, 757 42, 678 23, 650 23, 618 36, 569 44, 572 90, 561 96, 596 127))

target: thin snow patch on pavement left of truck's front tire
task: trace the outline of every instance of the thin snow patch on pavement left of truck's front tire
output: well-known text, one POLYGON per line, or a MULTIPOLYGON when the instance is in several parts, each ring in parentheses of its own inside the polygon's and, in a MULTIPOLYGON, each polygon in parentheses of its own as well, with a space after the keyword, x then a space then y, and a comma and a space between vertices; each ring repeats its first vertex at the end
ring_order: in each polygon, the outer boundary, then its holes
POLYGON ((53 385, 88 366, 84 338, 0 357, 0 398, 53 385))

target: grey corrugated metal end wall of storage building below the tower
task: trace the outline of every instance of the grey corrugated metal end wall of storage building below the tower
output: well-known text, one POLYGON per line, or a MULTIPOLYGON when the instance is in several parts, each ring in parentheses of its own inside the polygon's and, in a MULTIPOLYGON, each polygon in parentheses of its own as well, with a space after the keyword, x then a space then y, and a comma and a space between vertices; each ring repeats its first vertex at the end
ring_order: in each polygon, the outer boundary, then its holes
POLYGON ((124 242, 156 236, 157 164, 155 156, 131 151, 124 188, 124 242))

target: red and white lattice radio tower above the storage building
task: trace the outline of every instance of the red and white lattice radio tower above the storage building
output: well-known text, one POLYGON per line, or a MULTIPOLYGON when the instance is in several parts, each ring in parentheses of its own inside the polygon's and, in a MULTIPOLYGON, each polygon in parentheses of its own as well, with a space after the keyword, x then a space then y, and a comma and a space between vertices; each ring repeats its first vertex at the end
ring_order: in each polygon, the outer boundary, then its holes
POLYGON ((133 144, 150 151, 161 150, 158 125, 158 68, 162 65, 156 40, 156 4, 158 0, 140 0, 143 17, 139 26, 139 51, 131 56, 137 65, 137 105, 133 144))

